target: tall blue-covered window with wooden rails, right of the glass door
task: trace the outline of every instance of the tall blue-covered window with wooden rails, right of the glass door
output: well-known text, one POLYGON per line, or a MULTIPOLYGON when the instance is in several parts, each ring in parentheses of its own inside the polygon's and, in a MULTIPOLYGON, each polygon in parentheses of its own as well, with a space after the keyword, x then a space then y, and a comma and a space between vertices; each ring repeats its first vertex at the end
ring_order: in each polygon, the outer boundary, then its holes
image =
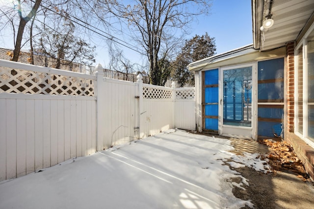
POLYGON ((258 62, 258 138, 284 138, 284 58, 258 62))

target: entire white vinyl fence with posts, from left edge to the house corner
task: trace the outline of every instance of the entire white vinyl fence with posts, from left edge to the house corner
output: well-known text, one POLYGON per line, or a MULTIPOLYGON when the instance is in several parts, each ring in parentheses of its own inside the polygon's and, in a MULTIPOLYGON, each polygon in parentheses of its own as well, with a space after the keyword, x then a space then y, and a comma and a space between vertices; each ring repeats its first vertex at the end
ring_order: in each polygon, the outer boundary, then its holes
POLYGON ((0 60, 0 181, 170 128, 195 130, 194 88, 0 60))

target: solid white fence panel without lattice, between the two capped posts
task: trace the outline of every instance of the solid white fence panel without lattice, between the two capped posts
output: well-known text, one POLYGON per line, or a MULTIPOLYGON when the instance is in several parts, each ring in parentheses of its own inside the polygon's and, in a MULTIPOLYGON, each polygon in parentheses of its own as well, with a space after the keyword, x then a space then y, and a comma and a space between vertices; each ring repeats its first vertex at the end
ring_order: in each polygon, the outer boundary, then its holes
POLYGON ((136 84, 97 73, 98 145, 102 150, 137 138, 134 133, 136 84))

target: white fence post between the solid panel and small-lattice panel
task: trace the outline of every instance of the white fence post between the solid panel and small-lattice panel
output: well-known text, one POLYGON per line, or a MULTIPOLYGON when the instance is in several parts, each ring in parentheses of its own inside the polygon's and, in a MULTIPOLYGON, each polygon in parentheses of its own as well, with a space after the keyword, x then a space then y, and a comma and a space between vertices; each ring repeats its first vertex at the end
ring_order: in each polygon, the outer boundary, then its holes
POLYGON ((141 139, 143 138, 144 135, 142 135, 142 130, 141 130, 141 115, 142 115, 142 111, 143 111, 143 76, 141 73, 139 73, 137 76, 136 76, 137 80, 136 80, 136 83, 137 83, 137 95, 135 96, 137 99, 138 99, 138 103, 137 103, 137 111, 138 111, 138 114, 136 115, 137 116, 137 127, 135 127, 135 129, 137 130, 137 138, 138 139, 141 139))

